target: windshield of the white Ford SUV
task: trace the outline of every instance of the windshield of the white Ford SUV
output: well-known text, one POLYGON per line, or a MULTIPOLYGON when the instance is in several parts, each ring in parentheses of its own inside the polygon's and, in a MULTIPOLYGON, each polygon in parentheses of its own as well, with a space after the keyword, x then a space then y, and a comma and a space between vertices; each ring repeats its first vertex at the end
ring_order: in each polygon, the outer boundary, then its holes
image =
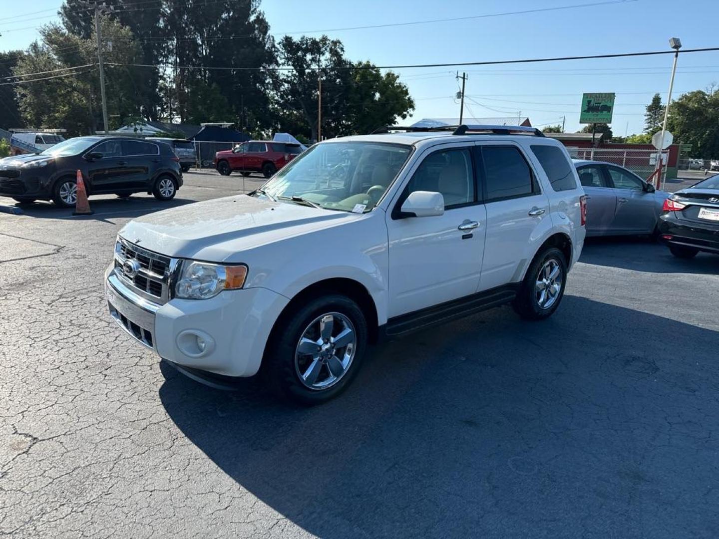
POLYGON ((280 201, 304 199, 329 210, 363 213, 377 205, 411 149, 378 142, 316 144, 280 170, 263 191, 280 201))

